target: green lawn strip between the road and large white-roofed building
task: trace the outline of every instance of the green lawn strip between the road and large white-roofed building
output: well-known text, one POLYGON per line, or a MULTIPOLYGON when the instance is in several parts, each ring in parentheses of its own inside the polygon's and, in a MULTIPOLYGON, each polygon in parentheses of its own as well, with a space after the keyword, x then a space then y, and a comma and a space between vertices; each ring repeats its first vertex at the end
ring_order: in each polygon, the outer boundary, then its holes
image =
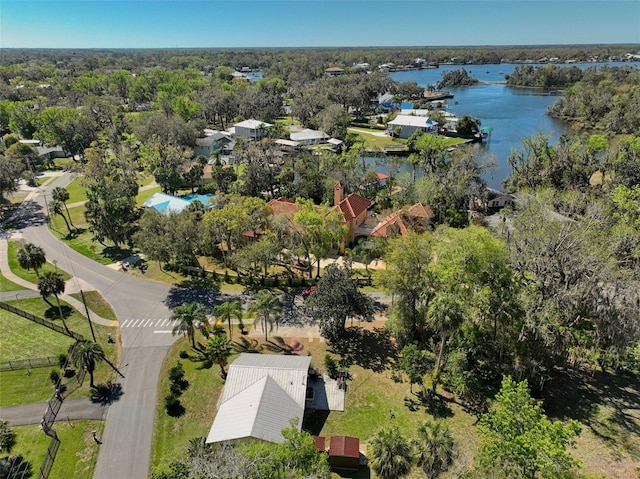
MULTIPOLYGON (((202 340, 202 338, 198 338, 202 340)), ((206 437, 215 417, 216 403, 222 390, 219 367, 202 369, 202 363, 181 359, 180 350, 193 354, 187 338, 181 338, 171 347, 160 374, 156 417, 154 421, 151 470, 164 467, 172 459, 181 457, 189 439, 206 437), (180 396, 185 412, 180 417, 169 416, 164 409, 164 397, 169 391, 168 371, 178 361, 185 369, 189 388, 180 396)), ((230 359, 232 361, 233 358, 230 359)))

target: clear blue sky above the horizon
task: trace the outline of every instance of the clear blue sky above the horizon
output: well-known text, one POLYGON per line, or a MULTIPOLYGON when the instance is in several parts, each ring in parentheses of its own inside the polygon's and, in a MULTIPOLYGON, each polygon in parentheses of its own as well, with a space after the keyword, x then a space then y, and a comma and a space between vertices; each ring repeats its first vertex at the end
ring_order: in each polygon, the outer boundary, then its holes
POLYGON ((0 48, 640 44, 638 0, 0 0, 0 48))

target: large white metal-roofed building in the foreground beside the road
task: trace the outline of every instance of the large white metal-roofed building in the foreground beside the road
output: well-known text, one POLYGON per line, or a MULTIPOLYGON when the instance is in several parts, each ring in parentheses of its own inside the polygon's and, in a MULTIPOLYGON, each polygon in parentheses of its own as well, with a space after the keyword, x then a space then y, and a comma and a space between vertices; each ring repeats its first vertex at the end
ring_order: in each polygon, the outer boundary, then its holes
POLYGON ((240 354, 229 366, 206 442, 283 442, 281 431, 292 419, 302 427, 310 366, 310 356, 240 354))

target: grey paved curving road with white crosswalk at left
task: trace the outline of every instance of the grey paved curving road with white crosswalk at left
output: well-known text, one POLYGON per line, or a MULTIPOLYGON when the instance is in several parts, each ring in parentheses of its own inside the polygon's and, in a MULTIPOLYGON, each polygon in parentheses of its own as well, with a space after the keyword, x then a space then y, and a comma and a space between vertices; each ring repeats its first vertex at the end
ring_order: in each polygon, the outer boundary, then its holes
MULTIPOLYGON (((46 226, 46 201, 54 186, 71 180, 64 174, 23 203, 16 229, 41 246, 49 261, 79 278, 85 289, 96 289, 111 304, 121 326, 120 379, 123 395, 107 412, 95 479, 143 479, 149 475, 153 420, 162 362, 174 341, 167 327, 167 303, 179 302, 181 292, 114 271, 76 253, 57 240, 46 226), (156 327, 122 327, 157 325, 156 327)), ((185 292, 186 293, 186 292, 185 292)))

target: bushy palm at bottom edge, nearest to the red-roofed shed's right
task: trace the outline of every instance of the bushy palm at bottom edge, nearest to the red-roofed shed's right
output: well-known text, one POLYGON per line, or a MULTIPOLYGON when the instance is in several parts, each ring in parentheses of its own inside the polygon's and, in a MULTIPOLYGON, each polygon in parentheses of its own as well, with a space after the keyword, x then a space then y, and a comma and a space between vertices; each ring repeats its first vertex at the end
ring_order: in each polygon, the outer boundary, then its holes
POLYGON ((384 428, 369 441, 369 464, 381 479, 397 479, 411 471, 411 444, 398 428, 384 428))

